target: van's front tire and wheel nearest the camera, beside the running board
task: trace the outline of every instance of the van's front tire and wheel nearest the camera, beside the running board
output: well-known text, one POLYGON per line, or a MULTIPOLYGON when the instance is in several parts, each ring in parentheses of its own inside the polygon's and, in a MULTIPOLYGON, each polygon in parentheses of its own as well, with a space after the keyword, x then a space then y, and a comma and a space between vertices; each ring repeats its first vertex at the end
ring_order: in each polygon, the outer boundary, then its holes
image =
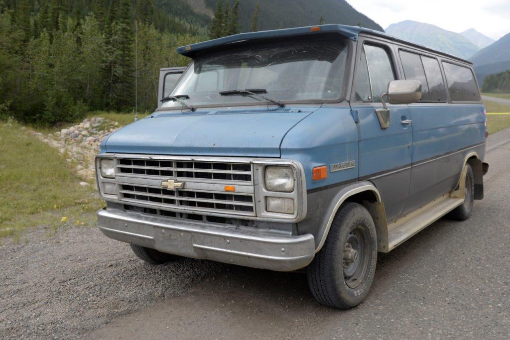
POLYGON ((376 263, 377 236, 372 217, 363 205, 346 203, 307 268, 312 295, 326 306, 355 307, 368 295, 376 263))

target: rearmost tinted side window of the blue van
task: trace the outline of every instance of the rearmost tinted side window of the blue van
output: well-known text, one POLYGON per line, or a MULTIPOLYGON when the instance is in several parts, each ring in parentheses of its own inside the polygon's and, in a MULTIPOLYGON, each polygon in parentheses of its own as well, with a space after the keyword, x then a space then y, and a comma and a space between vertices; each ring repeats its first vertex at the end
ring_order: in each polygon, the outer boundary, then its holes
POLYGON ((443 62, 451 101, 480 101, 475 77, 471 69, 443 62))

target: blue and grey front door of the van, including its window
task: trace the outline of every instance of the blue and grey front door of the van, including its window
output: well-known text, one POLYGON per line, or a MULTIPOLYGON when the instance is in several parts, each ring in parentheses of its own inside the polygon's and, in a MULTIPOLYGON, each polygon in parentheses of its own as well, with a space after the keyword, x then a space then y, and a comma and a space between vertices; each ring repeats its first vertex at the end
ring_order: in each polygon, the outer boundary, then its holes
MULTIPOLYGON (((358 116, 359 179, 373 182, 385 204, 387 219, 398 218, 409 194, 412 127, 407 105, 387 104, 389 126, 375 112, 381 96, 397 79, 393 49, 383 41, 361 40, 356 53, 351 109, 358 116)), ((386 98, 384 98, 386 100, 386 98)))

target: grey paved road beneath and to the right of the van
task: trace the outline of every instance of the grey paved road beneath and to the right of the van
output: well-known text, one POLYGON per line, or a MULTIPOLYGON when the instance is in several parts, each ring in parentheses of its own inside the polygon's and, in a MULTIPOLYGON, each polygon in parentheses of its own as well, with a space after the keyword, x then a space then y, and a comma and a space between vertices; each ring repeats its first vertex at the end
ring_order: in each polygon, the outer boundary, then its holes
POLYGON ((342 311, 301 273, 222 266, 186 294, 87 338, 510 338, 510 130, 491 136, 485 198, 380 254, 364 303, 342 311))

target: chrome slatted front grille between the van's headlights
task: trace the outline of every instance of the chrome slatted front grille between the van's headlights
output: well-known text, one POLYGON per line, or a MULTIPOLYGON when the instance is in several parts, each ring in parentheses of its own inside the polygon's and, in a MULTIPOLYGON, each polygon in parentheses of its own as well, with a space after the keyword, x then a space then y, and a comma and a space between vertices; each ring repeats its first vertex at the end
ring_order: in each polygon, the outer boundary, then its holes
POLYGON ((250 163, 123 158, 117 159, 116 167, 121 202, 207 216, 256 215, 250 163), (168 179, 183 187, 162 187, 168 179), (227 192, 225 185, 244 190, 227 192))

